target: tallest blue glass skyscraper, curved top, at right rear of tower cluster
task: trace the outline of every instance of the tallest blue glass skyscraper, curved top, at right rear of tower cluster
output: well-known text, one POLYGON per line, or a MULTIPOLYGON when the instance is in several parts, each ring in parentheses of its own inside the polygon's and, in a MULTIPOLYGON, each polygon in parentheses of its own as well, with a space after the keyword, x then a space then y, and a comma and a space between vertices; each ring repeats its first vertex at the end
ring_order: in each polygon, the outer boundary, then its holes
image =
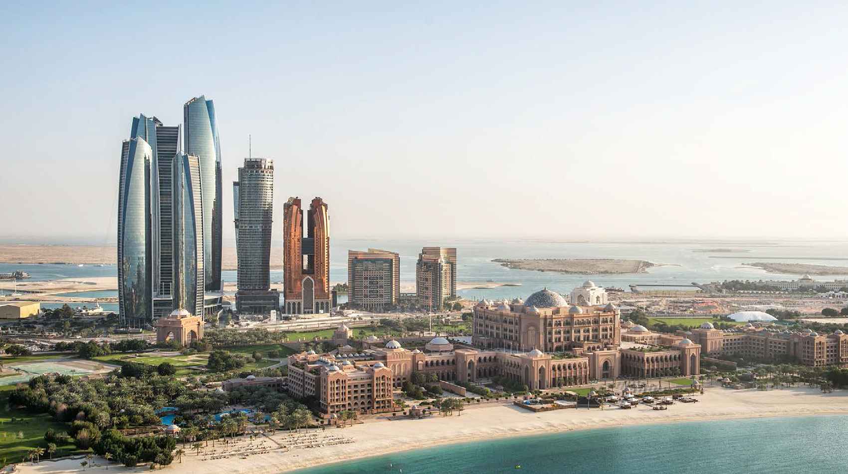
POLYGON ((220 142, 215 122, 215 105, 204 96, 192 98, 183 106, 183 146, 186 154, 200 161, 204 208, 204 271, 206 290, 220 292, 221 255, 221 176, 220 142))

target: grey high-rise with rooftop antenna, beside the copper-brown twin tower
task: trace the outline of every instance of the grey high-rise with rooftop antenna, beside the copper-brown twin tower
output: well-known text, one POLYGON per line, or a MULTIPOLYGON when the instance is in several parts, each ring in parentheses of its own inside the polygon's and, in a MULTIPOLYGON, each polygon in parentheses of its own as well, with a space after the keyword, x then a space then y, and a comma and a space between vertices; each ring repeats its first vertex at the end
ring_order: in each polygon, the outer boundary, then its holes
POLYGON ((274 162, 245 158, 232 182, 238 258, 236 308, 241 313, 269 314, 280 305, 271 290, 271 231, 274 162))

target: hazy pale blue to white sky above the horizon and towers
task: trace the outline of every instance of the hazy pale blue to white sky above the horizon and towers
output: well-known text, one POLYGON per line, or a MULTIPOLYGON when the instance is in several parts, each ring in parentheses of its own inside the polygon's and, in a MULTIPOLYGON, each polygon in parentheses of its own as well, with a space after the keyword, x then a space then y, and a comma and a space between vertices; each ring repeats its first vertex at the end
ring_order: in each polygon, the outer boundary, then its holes
POLYGON ((0 237, 114 242, 132 116, 205 94, 226 239, 248 134, 277 229, 848 238, 848 4, 586 4, 4 4, 0 237))

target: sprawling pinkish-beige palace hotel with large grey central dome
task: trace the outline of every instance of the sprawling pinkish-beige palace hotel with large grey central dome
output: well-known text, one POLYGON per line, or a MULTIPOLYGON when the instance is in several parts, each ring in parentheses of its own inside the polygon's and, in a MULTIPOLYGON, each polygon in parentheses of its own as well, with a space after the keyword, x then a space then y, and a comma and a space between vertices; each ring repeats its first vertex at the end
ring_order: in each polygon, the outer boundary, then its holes
MULTIPOLYGON (((591 292, 600 298, 597 301, 605 301, 602 288, 594 284, 585 288, 595 288, 591 292)), ((389 387, 399 391, 415 371, 435 374, 444 382, 489 382, 504 376, 532 390, 620 375, 700 373, 699 344, 685 337, 658 336, 650 343, 622 343, 619 321, 620 313, 612 304, 568 305, 558 293, 542 290, 526 302, 478 303, 473 346, 435 337, 422 348, 409 350, 396 340, 383 343, 370 336, 362 342, 363 349, 354 349, 344 340, 349 328, 340 326, 334 333, 335 342, 343 344, 339 349, 289 357, 287 387, 294 397, 315 395, 324 414, 332 416, 340 410, 391 410, 391 395, 379 385, 382 374, 389 387)))

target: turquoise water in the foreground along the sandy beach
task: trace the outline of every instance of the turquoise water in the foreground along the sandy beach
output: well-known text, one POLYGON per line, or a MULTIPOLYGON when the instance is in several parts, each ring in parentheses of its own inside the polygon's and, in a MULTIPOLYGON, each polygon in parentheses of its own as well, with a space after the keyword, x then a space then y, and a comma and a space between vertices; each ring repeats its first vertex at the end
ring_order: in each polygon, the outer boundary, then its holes
MULTIPOLYGON (((416 449, 298 474, 848 472, 848 416, 615 427, 416 449), (389 465, 392 465, 391 467, 389 465), (521 469, 516 469, 521 465, 521 469)), ((363 446, 367 450, 367 446, 363 446)))

